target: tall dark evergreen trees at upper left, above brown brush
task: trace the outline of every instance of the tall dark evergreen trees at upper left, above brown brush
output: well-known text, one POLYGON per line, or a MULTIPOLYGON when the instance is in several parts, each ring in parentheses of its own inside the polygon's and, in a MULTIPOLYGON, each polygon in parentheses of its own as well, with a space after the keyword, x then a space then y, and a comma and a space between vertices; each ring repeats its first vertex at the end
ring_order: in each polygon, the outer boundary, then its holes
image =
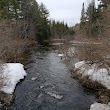
MULTIPOLYGON (((37 39, 39 43, 50 37, 46 7, 35 0, 1 0, 0 20, 10 20, 19 27, 20 38, 37 39)), ((2 22, 1 22, 2 23, 2 22)), ((18 31, 18 30, 17 30, 18 31)))

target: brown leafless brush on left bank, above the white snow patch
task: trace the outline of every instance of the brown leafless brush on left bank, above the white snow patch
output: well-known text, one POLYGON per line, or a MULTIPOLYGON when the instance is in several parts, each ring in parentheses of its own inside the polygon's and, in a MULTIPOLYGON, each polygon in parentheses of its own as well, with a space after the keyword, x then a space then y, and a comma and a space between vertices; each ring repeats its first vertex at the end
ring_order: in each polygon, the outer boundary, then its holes
POLYGON ((26 24, 21 21, 15 23, 10 20, 0 21, 0 89, 5 86, 7 79, 2 74, 4 69, 2 65, 6 62, 16 62, 27 47, 37 44, 34 41, 34 30, 30 29, 31 33, 28 35, 24 33, 25 26, 22 27, 26 24))

